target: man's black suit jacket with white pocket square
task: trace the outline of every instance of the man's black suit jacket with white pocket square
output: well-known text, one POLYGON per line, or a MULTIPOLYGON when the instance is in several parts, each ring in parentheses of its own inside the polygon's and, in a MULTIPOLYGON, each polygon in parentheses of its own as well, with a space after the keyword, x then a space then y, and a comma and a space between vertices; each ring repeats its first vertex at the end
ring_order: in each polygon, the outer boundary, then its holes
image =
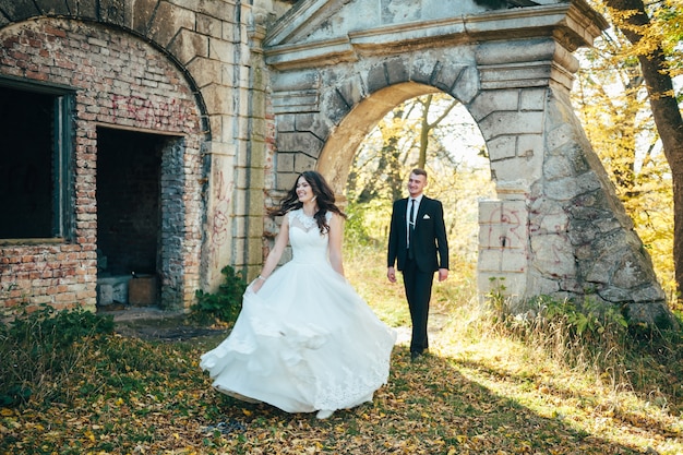
MULTIPOLYGON (((393 267, 398 262, 399 271, 404 270, 408 258, 406 232, 408 201, 409 199, 406 197, 394 202, 388 234, 387 266, 393 267)), ((415 218, 412 243, 415 261, 421 272, 448 268, 448 240, 443 220, 443 206, 440 201, 422 195, 420 208, 415 218)))

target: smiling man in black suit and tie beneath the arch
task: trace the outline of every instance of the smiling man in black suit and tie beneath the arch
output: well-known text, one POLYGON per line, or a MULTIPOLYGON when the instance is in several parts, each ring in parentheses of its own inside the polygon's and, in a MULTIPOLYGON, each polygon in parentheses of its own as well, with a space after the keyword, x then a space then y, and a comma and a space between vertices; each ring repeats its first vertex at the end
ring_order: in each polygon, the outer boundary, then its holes
POLYGON ((434 272, 439 280, 448 277, 448 241, 440 201, 422 194, 427 187, 427 171, 412 169, 408 179, 409 197, 394 202, 388 235, 388 270, 386 276, 396 283, 398 270, 403 272, 404 287, 410 319, 412 338, 410 359, 417 360, 427 352, 427 318, 432 296, 434 272))

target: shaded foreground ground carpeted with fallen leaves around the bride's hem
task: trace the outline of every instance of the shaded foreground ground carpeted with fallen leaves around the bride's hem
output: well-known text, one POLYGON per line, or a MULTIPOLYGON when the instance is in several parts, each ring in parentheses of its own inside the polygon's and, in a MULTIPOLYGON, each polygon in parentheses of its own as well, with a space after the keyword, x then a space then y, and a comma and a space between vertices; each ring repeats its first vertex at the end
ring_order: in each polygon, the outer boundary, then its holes
MULTIPOLYGON (((213 391, 197 364, 204 350, 202 344, 101 338, 68 383, 55 384, 48 402, 0 410, 0 453, 602 455, 647 450, 598 438, 558 416, 543 417, 475 380, 471 364, 444 355, 412 363, 397 346, 388 384, 373 403, 317 420, 314 414, 290 415, 213 391)), ((480 372, 490 381, 511 380, 480 372)), ((602 417, 595 416, 596 424, 602 417)), ((656 431, 645 423, 640 431, 656 431)))

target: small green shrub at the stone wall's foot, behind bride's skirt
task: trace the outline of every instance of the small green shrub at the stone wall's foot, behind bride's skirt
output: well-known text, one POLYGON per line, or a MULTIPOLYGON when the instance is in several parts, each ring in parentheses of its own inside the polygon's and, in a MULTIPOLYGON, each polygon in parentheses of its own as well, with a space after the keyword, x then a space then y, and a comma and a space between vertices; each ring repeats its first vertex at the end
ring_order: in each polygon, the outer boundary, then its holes
POLYGON ((196 291, 196 303, 190 309, 190 318, 200 323, 232 323, 242 310, 242 295, 247 290, 247 282, 240 273, 226 265, 220 273, 224 282, 215 294, 196 291))

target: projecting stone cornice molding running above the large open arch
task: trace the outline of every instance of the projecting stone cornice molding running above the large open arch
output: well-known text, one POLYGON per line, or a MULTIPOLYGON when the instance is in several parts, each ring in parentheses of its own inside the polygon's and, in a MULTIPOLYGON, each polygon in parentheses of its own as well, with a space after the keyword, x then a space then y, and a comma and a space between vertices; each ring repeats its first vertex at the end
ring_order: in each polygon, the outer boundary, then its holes
MULTIPOLYGON (((346 3, 342 0, 335 3, 346 3)), ((324 0, 304 2, 290 11, 288 24, 303 21, 324 0), (305 8, 304 8, 305 7, 305 8)), ((329 7, 329 3, 324 5, 329 7)), ((338 7, 338 4, 337 4, 338 7)), ((319 10, 315 10, 320 12, 319 10)), ((285 17, 283 17, 285 19, 285 17)), ((552 38, 568 51, 591 46, 607 22, 584 1, 490 11, 421 22, 382 25, 317 41, 273 44, 269 33, 264 45, 265 61, 278 70, 302 69, 359 60, 360 56, 383 56, 416 48, 443 48, 454 45, 524 38, 552 38)), ((284 29, 283 29, 284 32, 284 29)), ((279 35, 281 37, 281 35, 279 35)), ((277 40, 276 40, 277 41, 277 40)))

